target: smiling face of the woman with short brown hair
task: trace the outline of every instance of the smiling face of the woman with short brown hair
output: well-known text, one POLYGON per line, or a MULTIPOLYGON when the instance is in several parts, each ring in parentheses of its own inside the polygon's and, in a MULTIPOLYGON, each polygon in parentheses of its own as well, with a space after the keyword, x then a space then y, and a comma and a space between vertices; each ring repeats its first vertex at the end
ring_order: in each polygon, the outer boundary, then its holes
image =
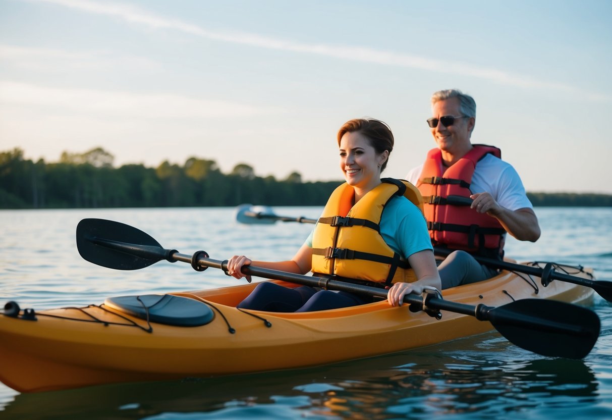
POLYGON ((340 139, 340 169, 349 186, 368 192, 380 183, 387 151, 377 154, 360 132, 347 132, 340 139))

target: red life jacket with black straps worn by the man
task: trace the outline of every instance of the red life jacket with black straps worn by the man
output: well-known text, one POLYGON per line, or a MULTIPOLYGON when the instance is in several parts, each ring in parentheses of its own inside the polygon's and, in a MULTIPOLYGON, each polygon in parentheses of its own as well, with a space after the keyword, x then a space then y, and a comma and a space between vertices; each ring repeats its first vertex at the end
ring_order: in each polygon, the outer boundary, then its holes
POLYGON ((499 258, 506 230, 494 217, 469 208, 469 189, 476 163, 487 154, 501 159, 501 151, 486 144, 474 147, 446 170, 442 152, 431 149, 423 165, 417 187, 424 200, 431 242, 450 249, 499 258))

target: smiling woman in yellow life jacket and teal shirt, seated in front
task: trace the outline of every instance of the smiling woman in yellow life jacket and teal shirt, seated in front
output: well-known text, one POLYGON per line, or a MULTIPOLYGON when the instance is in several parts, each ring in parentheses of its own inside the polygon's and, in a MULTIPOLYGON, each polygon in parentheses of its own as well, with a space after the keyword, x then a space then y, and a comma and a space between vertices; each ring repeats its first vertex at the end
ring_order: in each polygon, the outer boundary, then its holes
MULTIPOLYGON (((352 119, 340 128, 337 138, 346 183, 332 193, 296 255, 275 262, 234 255, 228 261, 227 274, 236 279, 245 277, 241 272, 244 264, 298 274, 312 270, 315 276, 358 279, 389 288, 387 301, 392 306, 401 306, 406 294, 421 294, 425 287, 439 290, 441 282, 425 218, 405 197, 406 190, 414 187, 381 179, 394 146, 389 127, 376 119, 352 119)), ((262 282, 238 307, 307 312, 367 302, 371 298, 352 293, 262 282)))

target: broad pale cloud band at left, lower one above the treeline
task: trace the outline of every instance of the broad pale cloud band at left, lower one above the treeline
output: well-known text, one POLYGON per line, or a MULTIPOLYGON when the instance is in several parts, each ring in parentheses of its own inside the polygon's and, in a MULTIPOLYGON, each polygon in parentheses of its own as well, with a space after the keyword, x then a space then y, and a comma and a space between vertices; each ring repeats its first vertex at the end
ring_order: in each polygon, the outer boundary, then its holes
POLYGON ((113 118, 223 118, 280 112, 275 108, 171 94, 58 89, 15 81, 0 81, 0 103, 34 105, 113 118))

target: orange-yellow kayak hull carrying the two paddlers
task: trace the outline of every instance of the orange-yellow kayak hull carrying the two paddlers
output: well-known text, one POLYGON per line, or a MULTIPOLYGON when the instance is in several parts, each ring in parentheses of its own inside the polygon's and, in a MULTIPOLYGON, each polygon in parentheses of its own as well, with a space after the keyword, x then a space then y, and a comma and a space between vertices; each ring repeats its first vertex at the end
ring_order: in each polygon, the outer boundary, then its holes
MULTIPOLYGON (((575 275, 591 279, 588 271, 575 275)), ((436 320, 406 305, 390 307, 386 301, 305 313, 236 309, 253 287, 173 293, 211 307, 214 319, 201 326, 147 324, 105 305, 44 310, 35 313, 36 320, 0 316, 0 380, 20 392, 38 392, 294 369, 395 353, 493 329, 468 315, 442 311, 442 319, 436 320), (149 326, 151 332, 146 331, 149 326)), ((484 282, 445 290, 444 298, 491 307, 526 298, 586 305, 593 291, 556 280, 542 287, 535 277, 503 271, 484 282)))

